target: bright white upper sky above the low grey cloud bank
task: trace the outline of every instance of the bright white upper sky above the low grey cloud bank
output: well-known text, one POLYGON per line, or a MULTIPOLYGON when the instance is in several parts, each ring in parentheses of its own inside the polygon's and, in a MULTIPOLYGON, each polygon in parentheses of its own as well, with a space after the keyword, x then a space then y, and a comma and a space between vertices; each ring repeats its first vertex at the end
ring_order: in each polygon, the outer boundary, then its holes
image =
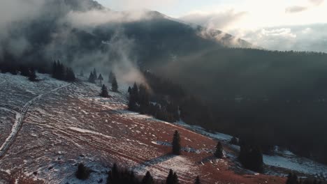
MULTIPOLYGON (((150 9, 171 17, 242 13, 233 28, 327 22, 324 0, 99 0, 113 10, 150 9)), ((230 17, 233 19, 233 16, 230 17)))

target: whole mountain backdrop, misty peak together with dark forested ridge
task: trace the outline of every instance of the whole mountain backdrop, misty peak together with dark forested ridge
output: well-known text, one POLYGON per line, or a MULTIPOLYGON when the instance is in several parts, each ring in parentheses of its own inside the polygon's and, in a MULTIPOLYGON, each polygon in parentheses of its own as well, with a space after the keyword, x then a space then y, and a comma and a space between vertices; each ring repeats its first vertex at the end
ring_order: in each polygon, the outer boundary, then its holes
POLYGON ((205 128, 327 163, 324 53, 240 48, 252 45, 155 11, 117 12, 90 0, 47 1, 34 17, 10 23, 0 40, 2 72, 15 65, 50 72, 57 59, 75 70, 117 70, 129 82, 144 82, 135 74, 151 70, 203 100, 213 119, 205 128))

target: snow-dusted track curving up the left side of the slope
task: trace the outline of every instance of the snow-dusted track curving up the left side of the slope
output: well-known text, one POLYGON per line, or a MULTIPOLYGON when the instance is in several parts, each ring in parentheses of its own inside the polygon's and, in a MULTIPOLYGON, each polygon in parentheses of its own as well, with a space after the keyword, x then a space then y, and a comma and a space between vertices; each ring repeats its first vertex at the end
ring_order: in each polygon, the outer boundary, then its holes
MULTIPOLYGON (((6 82, 6 79, 5 81, 6 82)), ((0 82, 0 84, 3 82, 0 82)), ((52 93, 54 91, 58 91, 59 89, 63 89, 66 88, 67 86, 70 86, 71 84, 66 84, 64 86, 60 86, 57 89, 52 89, 51 91, 47 92, 47 93, 43 93, 41 95, 36 96, 35 98, 29 100, 29 102, 27 102, 24 107, 20 110, 20 112, 18 112, 16 114, 16 118, 15 118, 15 123, 13 124, 13 128, 11 129, 10 135, 7 137, 6 141, 3 142, 2 146, 0 147, 0 158, 3 157, 3 155, 6 153, 6 151, 8 150, 10 144, 14 141, 18 131, 20 130, 20 128, 22 127, 22 121, 24 119, 25 114, 27 113, 27 110, 29 109, 29 106, 31 106, 31 104, 33 102, 35 102, 36 100, 40 99, 43 97, 43 95, 47 95, 49 93, 52 93)))

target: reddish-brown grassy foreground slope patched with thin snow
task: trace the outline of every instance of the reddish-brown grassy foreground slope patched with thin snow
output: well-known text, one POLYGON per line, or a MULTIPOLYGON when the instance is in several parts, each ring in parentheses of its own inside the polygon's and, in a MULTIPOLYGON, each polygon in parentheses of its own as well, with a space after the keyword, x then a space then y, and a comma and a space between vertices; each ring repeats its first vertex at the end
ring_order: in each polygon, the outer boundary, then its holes
MULTIPOLYGON (((110 92, 112 98, 101 98, 99 85, 68 85, 38 75, 43 80, 34 83, 20 75, 0 74, 1 145, 12 134, 17 114, 31 102, 15 139, 0 158, 0 183, 10 178, 17 183, 104 182, 114 162, 140 176, 151 171, 157 179, 174 169, 181 183, 193 183, 197 175, 203 183, 284 183, 284 178, 242 169, 233 158, 212 157, 217 139, 227 142, 231 136, 129 112, 126 93, 110 92), (170 155, 175 130, 181 135, 180 156, 170 155), (80 162, 94 170, 87 181, 75 178, 80 162)), ((224 146, 228 156, 235 153, 224 146)))

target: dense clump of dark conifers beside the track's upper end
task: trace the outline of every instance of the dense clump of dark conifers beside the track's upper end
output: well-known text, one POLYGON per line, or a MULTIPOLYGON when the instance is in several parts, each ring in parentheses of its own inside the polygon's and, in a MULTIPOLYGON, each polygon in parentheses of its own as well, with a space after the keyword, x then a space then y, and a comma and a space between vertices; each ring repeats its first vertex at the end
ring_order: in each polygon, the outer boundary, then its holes
POLYGON ((73 69, 64 66, 64 64, 60 61, 53 61, 52 77, 54 77, 54 79, 64 80, 68 82, 73 82, 76 79, 73 69))

